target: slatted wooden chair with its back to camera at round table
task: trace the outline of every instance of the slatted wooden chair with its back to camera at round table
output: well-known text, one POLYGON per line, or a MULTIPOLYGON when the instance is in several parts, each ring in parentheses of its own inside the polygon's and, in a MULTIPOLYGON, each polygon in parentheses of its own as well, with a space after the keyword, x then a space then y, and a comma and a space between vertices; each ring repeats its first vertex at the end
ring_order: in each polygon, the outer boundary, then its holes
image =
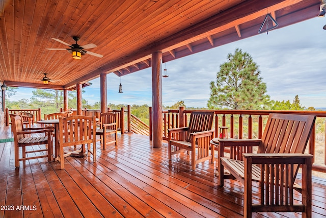
POLYGON ((78 155, 84 157, 86 154, 85 144, 87 144, 88 155, 93 155, 93 161, 96 162, 96 121, 95 116, 59 116, 59 161, 61 169, 64 169, 64 158, 69 155, 78 155), (91 143, 93 151, 91 151, 91 143), (80 148, 76 149, 76 146, 80 148), (64 147, 70 148, 70 151, 64 151, 64 147))

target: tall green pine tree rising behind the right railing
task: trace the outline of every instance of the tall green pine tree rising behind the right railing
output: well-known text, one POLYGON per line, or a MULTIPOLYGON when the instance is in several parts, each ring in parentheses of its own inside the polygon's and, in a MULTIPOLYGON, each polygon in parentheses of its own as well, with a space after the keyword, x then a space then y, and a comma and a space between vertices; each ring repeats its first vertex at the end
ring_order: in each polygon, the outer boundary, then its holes
POLYGON ((228 54, 220 65, 216 83, 210 82, 209 109, 268 109, 271 105, 258 65, 241 49, 228 54))

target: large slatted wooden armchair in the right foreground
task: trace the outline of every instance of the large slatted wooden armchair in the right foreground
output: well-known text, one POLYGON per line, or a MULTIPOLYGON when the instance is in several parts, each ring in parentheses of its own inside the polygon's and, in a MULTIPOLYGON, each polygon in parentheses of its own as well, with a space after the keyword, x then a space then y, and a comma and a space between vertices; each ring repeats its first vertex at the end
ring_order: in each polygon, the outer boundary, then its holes
POLYGON ((315 116, 269 114, 260 139, 221 139, 219 146, 219 185, 224 179, 237 179, 244 185, 244 216, 252 212, 302 212, 311 217, 312 155, 304 154, 315 116), (257 154, 252 147, 258 146, 257 154), (224 157, 230 147, 231 158, 224 157), (249 153, 251 152, 251 153, 249 153), (294 184, 302 166, 302 188, 294 184), (224 174, 224 168, 231 175, 224 174), (260 196, 252 199, 252 181, 258 181, 260 196), (294 204, 293 190, 302 192, 302 204, 294 204))

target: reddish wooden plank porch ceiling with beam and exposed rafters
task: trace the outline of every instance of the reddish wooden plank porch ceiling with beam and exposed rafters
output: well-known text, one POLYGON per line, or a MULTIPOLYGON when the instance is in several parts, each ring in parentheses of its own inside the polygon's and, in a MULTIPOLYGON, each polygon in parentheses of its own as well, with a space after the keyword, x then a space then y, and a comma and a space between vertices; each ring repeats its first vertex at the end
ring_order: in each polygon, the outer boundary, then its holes
POLYGON ((0 1, 0 80, 9 86, 70 88, 101 73, 123 76, 258 34, 270 13, 278 28, 319 13, 319 0, 0 1), (52 38, 97 47, 76 60, 52 38), (43 85, 46 73, 52 81, 43 85))

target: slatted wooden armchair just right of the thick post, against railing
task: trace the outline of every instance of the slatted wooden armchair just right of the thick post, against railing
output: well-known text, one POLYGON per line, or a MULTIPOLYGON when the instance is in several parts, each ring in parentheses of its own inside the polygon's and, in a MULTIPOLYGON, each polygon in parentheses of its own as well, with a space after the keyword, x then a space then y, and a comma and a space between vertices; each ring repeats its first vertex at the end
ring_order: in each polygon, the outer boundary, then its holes
POLYGON ((173 154, 191 151, 191 165, 195 170, 197 163, 211 159, 209 141, 214 136, 214 130, 211 130, 213 118, 213 111, 192 112, 188 127, 168 129, 169 160, 173 154))

